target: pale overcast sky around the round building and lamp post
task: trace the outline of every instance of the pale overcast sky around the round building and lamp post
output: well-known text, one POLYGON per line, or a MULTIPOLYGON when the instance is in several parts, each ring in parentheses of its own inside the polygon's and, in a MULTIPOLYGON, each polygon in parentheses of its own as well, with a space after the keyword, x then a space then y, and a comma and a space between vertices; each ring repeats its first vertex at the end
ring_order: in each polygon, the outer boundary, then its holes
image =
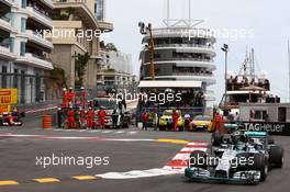
MULTIPOLYGON (((215 92, 215 103, 224 90, 223 44, 230 45, 228 70, 234 74, 238 72, 247 47, 254 48, 257 74, 266 70, 271 92, 289 101, 289 0, 191 0, 191 18, 204 20, 198 26, 220 32, 214 45, 216 84, 209 88, 215 92), (238 38, 236 32, 241 34, 238 38)), ((138 75, 142 48, 137 24, 143 21, 150 22, 153 27, 165 26, 166 10, 166 0, 107 0, 105 20, 114 24, 114 31, 103 39, 132 55, 135 75, 138 75)), ((170 19, 188 19, 188 0, 170 0, 170 19)))

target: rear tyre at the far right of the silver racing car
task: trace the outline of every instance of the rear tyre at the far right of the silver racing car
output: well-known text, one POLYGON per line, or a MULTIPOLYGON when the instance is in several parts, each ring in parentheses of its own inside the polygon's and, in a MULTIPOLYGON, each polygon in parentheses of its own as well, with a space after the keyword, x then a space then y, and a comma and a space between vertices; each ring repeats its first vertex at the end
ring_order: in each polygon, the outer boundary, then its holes
POLYGON ((269 162, 276 168, 283 167, 283 149, 280 146, 270 147, 269 162))

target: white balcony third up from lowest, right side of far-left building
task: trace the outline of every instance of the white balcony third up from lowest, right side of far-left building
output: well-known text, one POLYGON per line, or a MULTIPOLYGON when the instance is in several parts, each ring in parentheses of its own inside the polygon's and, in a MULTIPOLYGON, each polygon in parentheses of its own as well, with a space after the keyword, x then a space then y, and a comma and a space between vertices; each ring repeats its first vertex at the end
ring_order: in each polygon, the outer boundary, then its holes
POLYGON ((53 29, 53 20, 44 11, 33 5, 27 5, 26 10, 31 19, 36 20, 48 29, 53 29))

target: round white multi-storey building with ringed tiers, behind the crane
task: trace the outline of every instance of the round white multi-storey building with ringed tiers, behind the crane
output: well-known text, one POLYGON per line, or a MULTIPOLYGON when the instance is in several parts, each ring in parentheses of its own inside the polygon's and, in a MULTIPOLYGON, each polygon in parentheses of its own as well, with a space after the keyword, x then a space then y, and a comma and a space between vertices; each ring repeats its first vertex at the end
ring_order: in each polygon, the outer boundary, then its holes
MULTIPOLYGON (((205 101, 214 100, 209 87, 215 83, 215 37, 209 29, 168 26, 153 29, 155 79, 170 81, 199 81, 205 101)), ((143 44, 149 36, 145 35, 143 44)), ((150 60, 147 46, 141 52, 141 80, 150 80, 150 60)))

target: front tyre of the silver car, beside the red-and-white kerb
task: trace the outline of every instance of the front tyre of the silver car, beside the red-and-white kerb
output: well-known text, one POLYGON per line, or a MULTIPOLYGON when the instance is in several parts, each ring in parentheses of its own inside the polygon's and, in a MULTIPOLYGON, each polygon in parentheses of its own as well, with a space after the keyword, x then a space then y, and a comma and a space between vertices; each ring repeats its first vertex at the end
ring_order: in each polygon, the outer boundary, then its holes
POLYGON ((190 154, 189 167, 207 169, 207 154, 204 151, 196 150, 190 154))

